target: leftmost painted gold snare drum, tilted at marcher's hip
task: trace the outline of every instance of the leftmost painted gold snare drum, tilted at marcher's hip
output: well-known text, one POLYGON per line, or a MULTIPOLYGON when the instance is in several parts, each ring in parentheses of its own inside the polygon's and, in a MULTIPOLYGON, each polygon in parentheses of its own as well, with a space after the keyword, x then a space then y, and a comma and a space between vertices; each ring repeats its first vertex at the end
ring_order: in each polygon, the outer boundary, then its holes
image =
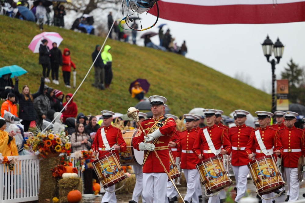
POLYGON ((102 156, 92 163, 95 173, 99 177, 99 181, 102 183, 103 188, 113 186, 127 177, 116 154, 114 153, 102 156))

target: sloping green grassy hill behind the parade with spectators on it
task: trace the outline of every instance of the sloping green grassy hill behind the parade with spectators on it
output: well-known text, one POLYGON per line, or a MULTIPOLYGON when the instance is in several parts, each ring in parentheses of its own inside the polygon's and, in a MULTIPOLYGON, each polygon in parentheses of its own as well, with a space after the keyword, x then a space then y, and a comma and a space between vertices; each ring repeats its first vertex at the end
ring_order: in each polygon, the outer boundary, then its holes
MULTIPOLYGON (((39 87, 42 68, 38 64, 38 54, 33 54, 27 46, 40 33, 38 26, 0 16, 0 27, 0 67, 16 64, 25 68, 28 74, 20 76, 19 89, 28 85, 34 93, 39 87)), ((91 66, 91 53, 95 45, 102 45, 105 38, 52 26, 44 28, 44 31, 58 32, 63 37, 59 48, 62 51, 65 47, 70 49, 72 61, 77 67, 78 86, 91 66)), ((257 110, 271 109, 270 95, 181 55, 111 39, 106 44, 112 47, 112 89, 102 91, 91 86, 94 82, 92 68, 74 97, 78 112, 96 115, 108 109, 126 113, 129 107, 138 102, 128 92, 130 83, 137 78, 145 78, 151 84, 145 96, 165 96, 171 113, 179 116, 194 107, 221 109, 227 115, 239 108, 252 114, 257 110)), ((63 85, 61 69, 59 77, 60 85, 50 86, 62 90, 65 95, 74 93, 75 89, 63 85)))

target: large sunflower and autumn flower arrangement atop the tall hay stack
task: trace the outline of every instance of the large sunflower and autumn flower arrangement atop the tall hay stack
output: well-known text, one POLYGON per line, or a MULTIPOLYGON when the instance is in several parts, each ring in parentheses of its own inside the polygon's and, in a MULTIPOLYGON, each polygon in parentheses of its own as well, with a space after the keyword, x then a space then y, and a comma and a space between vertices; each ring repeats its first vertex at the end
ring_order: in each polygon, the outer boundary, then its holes
POLYGON ((37 135, 27 139, 24 149, 38 152, 42 158, 58 156, 60 153, 70 156, 70 135, 63 131, 59 134, 54 134, 52 131, 38 132, 37 135))

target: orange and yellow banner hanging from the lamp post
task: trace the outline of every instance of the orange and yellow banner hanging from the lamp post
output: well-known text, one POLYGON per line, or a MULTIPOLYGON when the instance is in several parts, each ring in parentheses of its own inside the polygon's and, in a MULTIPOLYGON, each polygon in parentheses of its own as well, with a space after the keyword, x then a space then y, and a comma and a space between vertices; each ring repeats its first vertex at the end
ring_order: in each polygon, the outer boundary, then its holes
POLYGON ((289 110, 289 100, 288 100, 289 82, 287 79, 282 79, 282 80, 277 80, 276 84, 277 84, 276 110, 287 111, 289 110))

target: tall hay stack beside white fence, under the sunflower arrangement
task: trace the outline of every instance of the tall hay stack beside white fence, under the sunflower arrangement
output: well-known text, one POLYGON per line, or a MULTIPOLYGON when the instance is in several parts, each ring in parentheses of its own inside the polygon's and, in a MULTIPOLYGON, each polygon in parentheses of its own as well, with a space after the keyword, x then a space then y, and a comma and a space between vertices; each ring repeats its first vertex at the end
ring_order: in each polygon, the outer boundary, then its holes
POLYGON ((60 157, 50 157, 39 160, 39 202, 45 202, 47 199, 57 197, 56 178, 52 176, 51 169, 60 163, 60 157))

